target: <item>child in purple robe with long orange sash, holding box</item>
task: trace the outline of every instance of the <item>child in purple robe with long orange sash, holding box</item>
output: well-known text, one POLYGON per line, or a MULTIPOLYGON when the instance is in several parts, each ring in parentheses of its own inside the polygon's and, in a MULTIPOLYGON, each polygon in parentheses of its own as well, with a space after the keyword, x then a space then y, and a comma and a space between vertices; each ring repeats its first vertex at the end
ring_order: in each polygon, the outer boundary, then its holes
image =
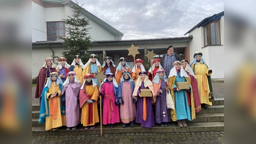
POLYGON ((154 99, 155 92, 151 81, 149 81, 147 73, 140 72, 138 80, 136 81, 134 92, 132 96, 137 101, 136 123, 141 124, 141 127, 154 127, 154 114, 152 110, 152 103, 156 102, 154 99), (142 89, 150 89, 151 95, 148 97, 141 97, 142 89))

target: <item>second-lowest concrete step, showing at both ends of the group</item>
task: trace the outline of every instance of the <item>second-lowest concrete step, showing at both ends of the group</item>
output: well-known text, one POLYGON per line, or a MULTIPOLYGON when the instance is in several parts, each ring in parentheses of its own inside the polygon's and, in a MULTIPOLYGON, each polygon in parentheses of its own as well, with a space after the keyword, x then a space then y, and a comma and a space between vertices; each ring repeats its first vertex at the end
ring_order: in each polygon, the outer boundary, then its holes
MULTIPOLYGON (((196 119, 189 123, 193 122, 224 122, 224 113, 196 113, 196 119)), ((32 127, 44 125, 45 124, 38 124, 38 118, 32 118, 32 127)))

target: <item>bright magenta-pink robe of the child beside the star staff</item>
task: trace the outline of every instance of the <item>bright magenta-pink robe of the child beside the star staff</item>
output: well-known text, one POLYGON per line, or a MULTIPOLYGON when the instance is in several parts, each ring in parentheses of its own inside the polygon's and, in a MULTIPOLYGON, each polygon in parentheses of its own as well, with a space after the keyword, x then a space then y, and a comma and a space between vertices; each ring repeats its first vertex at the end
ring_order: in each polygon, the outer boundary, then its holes
POLYGON ((102 84, 101 92, 103 95, 103 116, 102 124, 115 124, 120 122, 119 108, 115 105, 115 91, 113 82, 106 81, 102 84))

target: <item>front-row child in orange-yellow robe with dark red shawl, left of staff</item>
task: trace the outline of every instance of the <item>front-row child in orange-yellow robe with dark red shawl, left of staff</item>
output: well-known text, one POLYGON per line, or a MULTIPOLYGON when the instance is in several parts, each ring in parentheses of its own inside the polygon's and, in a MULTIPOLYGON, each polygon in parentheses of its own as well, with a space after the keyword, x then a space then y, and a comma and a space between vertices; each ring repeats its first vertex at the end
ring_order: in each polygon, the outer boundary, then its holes
POLYGON ((84 83, 79 92, 80 108, 82 108, 81 124, 84 129, 94 129, 95 123, 99 122, 97 100, 99 90, 95 81, 94 74, 84 75, 84 83))

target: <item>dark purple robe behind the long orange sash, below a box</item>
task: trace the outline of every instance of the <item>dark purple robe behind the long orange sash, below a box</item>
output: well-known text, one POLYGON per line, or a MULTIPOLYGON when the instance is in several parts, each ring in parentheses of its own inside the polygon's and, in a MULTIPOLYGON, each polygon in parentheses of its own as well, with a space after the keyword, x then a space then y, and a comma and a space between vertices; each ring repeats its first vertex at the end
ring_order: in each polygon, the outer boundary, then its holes
MULTIPOLYGON (((145 89, 143 82, 141 82, 141 86, 138 89, 137 95, 139 95, 141 89, 145 89)), ((148 89, 148 87, 146 89, 148 89)), ((143 120, 143 97, 138 96, 137 113, 136 113, 135 122, 142 124, 142 127, 154 127, 155 121, 154 121, 154 114, 152 110, 151 97, 146 97, 146 100, 147 100, 147 120, 145 121, 143 120)))

